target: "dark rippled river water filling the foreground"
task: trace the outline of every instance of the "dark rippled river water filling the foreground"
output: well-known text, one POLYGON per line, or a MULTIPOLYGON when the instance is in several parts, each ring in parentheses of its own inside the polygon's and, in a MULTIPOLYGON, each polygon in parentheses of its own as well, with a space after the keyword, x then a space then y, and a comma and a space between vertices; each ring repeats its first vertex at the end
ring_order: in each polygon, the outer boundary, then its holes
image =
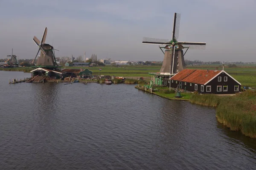
POLYGON ((134 85, 19 83, 0 71, 1 170, 249 170, 256 140, 215 109, 134 85))

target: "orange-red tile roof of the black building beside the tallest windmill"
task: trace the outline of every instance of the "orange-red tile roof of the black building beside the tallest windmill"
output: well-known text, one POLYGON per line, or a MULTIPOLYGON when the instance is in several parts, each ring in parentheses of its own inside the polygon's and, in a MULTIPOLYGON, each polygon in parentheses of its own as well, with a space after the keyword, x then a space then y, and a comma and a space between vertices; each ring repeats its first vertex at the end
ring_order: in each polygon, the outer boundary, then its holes
POLYGON ((196 69, 185 69, 175 74, 171 79, 182 81, 182 82, 191 82, 195 84, 204 85, 210 79, 219 74, 221 70, 196 70, 196 69))

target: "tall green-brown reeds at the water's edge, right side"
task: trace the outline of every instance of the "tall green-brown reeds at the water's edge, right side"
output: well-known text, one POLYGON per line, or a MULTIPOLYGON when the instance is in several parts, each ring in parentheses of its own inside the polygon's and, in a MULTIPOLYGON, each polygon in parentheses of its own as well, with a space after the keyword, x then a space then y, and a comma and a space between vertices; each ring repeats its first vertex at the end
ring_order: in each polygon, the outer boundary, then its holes
POLYGON ((216 110, 219 122, 230 130, 256 138, 256 91, 245 91, 221 100, 216 110))

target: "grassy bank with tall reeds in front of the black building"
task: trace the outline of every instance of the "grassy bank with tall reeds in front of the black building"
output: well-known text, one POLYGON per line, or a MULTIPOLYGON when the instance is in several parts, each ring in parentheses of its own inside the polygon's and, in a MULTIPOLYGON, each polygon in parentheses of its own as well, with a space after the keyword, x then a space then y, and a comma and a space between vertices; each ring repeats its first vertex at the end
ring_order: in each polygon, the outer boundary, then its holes
MULTIPOLYGON (((140 90, 151 92, 150 89, 140 88, 140 90)), ((156 88, 157 89, 157 88, 156 88)), ((192 94, 181 93, 183 98, 175 98, 175 91, 166 91, 168 88, 160 88, 152 92, 158 96, 172 100, 186 100, 198 105, 216 108, 218 122, 233 131, 241 131, 245 136, 256 138, 256 91, 244 91, 232 96, 218 96, 215 94, 192 94)))

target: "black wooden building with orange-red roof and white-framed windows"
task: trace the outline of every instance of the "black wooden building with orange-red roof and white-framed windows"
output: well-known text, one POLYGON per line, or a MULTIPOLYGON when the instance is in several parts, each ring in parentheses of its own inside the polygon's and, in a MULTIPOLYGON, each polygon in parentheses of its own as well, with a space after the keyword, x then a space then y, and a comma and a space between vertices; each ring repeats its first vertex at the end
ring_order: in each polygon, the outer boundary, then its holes
POLYGON ((178 72, 167 85, 200 94, 235 94, 241 91, 241 83, 224 70, 184 69, 178 72))

